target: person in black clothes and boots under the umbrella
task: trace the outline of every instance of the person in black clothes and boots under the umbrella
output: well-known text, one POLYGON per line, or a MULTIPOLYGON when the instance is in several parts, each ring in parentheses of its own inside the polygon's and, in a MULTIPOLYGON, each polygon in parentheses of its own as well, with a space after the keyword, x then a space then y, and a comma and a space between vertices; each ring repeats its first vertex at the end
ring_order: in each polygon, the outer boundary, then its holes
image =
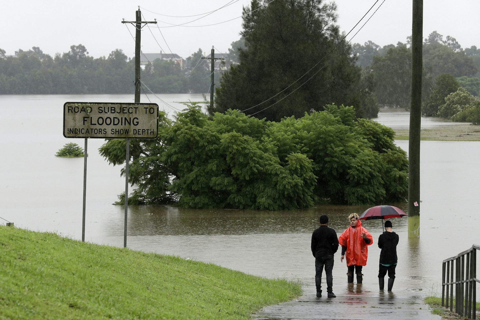
POLYGON ((396 245, 398 244, 398 235, 392 232, 392 222, 389 220, 385 221, 385 230, 378 237, 378 248, 382 249, 380 252, 378 284, 380 290, 384 290, 384 277, 388 272, 388 291, 392 291, 397 263, 396 245))

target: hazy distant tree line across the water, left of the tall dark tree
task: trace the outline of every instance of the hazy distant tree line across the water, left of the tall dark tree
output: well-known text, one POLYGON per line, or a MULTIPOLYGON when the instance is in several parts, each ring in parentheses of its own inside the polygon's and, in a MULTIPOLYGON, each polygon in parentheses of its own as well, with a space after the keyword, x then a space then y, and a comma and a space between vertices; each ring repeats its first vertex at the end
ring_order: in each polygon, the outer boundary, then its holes
MULTIPOLYGON (((209 64, 201 56, 199 49, 186 59, 184 69, 170 60, 150 61, 142 70, 142 81, 155 93, 207 92, 209 64)), ((133 80, 134 59, 121 49, 96 59, 81 44, 53 58, 39 47, 19 49, 15 56, 6 56, 0 49, 0 94, 4 95, 127 94, 134 91, 133 80)))

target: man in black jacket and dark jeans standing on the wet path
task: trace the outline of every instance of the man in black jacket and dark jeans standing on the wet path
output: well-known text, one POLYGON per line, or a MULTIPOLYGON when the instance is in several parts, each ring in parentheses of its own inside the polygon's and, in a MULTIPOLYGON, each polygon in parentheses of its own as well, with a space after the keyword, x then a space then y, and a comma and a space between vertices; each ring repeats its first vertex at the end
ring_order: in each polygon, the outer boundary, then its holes
POLYGON ((322 296, 322 273, 324 271, 327 278, 327 292, 329 298, 335 298, 333 293, 333 255, 338 250, 338 238, 334 229, 328 226, 328 216, 323 214, 320 217, 320 227, 315 229, 312 234, 312 254, 315 257, 315 285, 317 287, 317 296, 322 296))

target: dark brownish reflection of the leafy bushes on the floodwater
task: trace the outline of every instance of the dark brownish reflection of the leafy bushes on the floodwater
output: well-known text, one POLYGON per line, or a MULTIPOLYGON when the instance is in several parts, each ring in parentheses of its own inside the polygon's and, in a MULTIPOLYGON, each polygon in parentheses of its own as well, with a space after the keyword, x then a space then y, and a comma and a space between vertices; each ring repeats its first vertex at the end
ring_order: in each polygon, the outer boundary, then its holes
MULTIPOLYGON (((407 211, 405 203, 394 204, 407 211)), ((296 211, 254 211, 184 209, 170 206, 131 207, 129 234, 132 236, 154 235, 248 235, 311 232, 318 224, 321 214, 328 214, 329 225, 340 231, 345 229, 348 214, 361 214, 370 206, 322 205, 296 211)), ((382 230, 381 220, 363 222, 374 230, 382 230)), ((398 219, 397 225, 404 226, 407 219, 398 219)), ((123 229, 120 230, 123 232, 123 229)), ((107 225, 106 232, 116 235, 107 225)))

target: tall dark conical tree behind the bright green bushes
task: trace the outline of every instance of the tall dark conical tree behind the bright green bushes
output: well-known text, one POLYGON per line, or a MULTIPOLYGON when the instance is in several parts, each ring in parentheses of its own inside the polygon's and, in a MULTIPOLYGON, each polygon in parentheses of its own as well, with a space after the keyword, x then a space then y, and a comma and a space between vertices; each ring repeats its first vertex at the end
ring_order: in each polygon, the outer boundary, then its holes
POLYGON ((334 3, 252 0, 243 13, 245 48, 224 72, 210 114, 232 108, 278 121, 336 102, 355 106, 359 117, 376 116, 372 83, 362 79, 351 47, 334 49, 342 38, 334 3))

